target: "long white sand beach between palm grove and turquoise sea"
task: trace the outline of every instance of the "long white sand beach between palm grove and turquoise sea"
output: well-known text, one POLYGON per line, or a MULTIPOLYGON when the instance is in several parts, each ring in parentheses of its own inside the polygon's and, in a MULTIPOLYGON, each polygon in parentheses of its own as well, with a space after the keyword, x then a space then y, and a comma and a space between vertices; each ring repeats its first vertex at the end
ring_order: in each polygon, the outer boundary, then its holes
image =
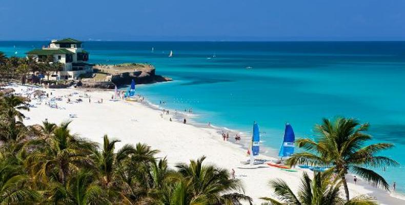
MULTIPOLYGON (((22 92, 27 87, 11 86, 16 93, 22 92)), ((93 141, 102 143, 105 134, 110 137, 122 140, 117 144, 117 148, 125 144, 146 143, 153 149, 158 149, 159 157, 167 157, 170 165, 174 166, 178 162, 189 162, 202 155, 207 156, 206 163, 213 163, 226 169, 234 169, 237 178, 243 182, 245 193, 254 199, 254 204, 260 204, 260 197, 274 197, 273 190, 268 186, 270 179, 281 178, 286 180, 295 190, 298 188, 299 177, 303 170, 298 172, 286 172, 278 168, 262 165, 258 169, 240 169, 249 167, 241 165, 240 161, 246 160, 246 150, 241 145, 230 141, 222 140, 217 130, 212 128, 199 128, 180 121, 169 121, 171 115, 160 116, 161 111, 154 110, 137 102, 124 100, 110 101, 113 91, 89 91, 85 89, 41 89, 47 93, 52 92, 52 96, 70 96, 72 101, 82 98, 82 103, 67 103, 67 97, 62 101, 57 101, 58 109, 45 105, 44 100, 40 105, 36 101, 30 104, 35 108, 30 108, 25 112, 29 119, 24 122, 27 125, 41 124, 46 118, 59 124, 66 120, 72 120, 70 128, 73 133, 78 133, 93 141), (91 96, 83 98, 85 92, 91 96), (103 103, 97 100, 103 99, 103 103), (62 109, 60 109, 62 108, 62 109), (75 114, 77 118, 69 118, 69 114, 75 114)), ((145 96, 147 98, 147 96, 145 96)), ((270 157, 262 156, 270 159, 270 157)), ((354 185, 352 177, 349 178, 349 189, 351 196, 359 194, 370 194, 381 202, 381 204, 405 204, 405 200, 392 197, 390 193, 381 189, 369 186, 367 182, 361 181, 354 185)), ((294 190, 294 191, 295 191, 294 190)))

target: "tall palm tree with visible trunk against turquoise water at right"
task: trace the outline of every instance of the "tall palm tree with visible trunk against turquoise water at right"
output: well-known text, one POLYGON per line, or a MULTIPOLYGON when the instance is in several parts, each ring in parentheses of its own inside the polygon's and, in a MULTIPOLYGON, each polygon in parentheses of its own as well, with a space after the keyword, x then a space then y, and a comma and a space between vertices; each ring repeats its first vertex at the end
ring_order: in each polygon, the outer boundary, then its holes
POLYGON ((365 146, 371 136, 364 133, 369 124, 360 124, 352 118, 324 118, 322 125, 316 125, 315 140, 298 139, 296 144, 307 152, 296 153, 287 160, 290 166, 297 163, 330 166, 341 177, 349 201, 346 174, 350 171, 361 176, 375 186, 389 190, 387 181, 369 168, 397 166, 398 162, 385 156, 375 156, 378 152, 393 147, 390 143, 377 143, 365 146))

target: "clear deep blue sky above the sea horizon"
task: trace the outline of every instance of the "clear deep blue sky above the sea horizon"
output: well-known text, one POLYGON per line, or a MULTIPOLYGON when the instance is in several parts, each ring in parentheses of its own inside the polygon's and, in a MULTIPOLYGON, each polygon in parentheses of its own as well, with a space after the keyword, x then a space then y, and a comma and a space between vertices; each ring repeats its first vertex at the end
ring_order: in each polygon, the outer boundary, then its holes
POLYGON ((0 0, 0 40, 405 40, 404 0, 0 0))

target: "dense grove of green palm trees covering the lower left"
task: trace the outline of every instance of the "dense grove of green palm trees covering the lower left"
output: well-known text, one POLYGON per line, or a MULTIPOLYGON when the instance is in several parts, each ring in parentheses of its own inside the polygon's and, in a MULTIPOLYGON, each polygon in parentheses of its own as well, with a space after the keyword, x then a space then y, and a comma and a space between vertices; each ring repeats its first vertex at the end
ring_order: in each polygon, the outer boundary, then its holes
POLYGON ((0 96, 0 204, 239 204, 251 202, 230 173, 205 157, 173 168, 146 144, 103 145, 70 121, 25 126, 26 98, 0 96))

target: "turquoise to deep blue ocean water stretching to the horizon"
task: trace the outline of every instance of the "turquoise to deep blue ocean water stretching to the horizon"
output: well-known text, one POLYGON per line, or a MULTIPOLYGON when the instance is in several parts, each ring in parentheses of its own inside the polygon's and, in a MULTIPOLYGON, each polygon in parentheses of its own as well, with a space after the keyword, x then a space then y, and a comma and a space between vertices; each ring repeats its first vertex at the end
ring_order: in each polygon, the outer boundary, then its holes
MULTIPOLYGON (((24 56, 46 42, 0 42, 24 56)), ((263 145, 278 149, 289 122, 311 137, 322 117, 370 122, 381 155, 401 163, 386 172, 405 192, 405 42, 85 42, 90 63, 147 62, 170 83, 138 86, 154 104, 192 108, 196 121, 249 134, 257 121, 263 145), (152 47, 154 52, 152 52, 152 47), (168 54, 173 50, 173 57, 168 54), (247 69, 251 67, 251 69, 247 69)), ((15 54, 17 52, 17 54, 15 54)), ((268 153, 275 155, 276 153, 268 153)))

